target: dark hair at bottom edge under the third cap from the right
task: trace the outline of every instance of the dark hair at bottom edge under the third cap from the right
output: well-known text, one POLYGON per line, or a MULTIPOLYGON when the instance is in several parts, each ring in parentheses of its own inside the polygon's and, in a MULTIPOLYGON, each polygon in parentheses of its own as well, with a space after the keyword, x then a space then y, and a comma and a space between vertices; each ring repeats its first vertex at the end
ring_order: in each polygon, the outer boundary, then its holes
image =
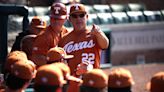
POLYGON ((88 86, 81 86, 80 92, 107 92, 107 87, 105 88, 94 88, 88 86))

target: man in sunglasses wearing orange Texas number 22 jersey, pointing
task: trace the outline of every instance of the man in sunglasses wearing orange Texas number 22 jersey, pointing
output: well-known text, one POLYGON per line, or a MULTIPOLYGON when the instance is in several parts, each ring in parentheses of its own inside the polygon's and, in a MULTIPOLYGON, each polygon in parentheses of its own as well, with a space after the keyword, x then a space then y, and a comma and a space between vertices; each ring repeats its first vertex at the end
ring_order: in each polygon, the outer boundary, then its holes
MULTIPOLYGON (((109 46, 109 39, 97 25, 93 24, 92 29, 87 27, 87 19, 85 6, 72 4, 69 21, 73 30, 59 41, 59 46, 63 47, 67 54, 74 55, 68 65, 71 74, 76 77, 92 68, 100 68, 101 50, 109 46)), ((68 92, 78 92, 77 85, 70 82, 68 92)))

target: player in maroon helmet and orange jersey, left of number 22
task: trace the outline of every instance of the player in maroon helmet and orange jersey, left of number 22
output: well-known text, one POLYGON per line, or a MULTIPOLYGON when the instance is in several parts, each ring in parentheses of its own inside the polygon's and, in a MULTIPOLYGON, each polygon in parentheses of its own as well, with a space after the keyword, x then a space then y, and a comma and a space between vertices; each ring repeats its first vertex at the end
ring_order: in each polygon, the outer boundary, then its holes
POLYGON ((67 33, 63 26, 67 19, 67 9, 62 3, 54 2, 50 9, 50 25, 45 32, 35 38, 32 49, 32 61, 41 66, 46 64, 46 54, 50 48, 58 45, 58 41, 67 33))

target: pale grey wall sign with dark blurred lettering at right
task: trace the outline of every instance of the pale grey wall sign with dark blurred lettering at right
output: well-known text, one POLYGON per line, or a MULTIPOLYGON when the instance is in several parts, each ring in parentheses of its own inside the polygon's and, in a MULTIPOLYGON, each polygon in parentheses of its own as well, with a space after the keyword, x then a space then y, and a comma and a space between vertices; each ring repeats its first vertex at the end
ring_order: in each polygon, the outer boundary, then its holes
POLYGON ((164 49, 164 30, 112 31, 112 51, 164 49))

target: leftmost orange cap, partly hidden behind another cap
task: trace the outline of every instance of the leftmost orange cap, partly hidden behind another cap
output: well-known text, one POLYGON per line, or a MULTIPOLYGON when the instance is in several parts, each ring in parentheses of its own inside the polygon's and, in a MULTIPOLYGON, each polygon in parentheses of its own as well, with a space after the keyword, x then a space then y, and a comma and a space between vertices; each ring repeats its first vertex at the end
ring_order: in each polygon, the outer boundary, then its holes
POLYGON ((5 62, 5 70, 10 71, 13 68, 13 65, 20 60, 27 60, 27 55, 23 51, 13 51, 8 54, 7 60, 5 62))

